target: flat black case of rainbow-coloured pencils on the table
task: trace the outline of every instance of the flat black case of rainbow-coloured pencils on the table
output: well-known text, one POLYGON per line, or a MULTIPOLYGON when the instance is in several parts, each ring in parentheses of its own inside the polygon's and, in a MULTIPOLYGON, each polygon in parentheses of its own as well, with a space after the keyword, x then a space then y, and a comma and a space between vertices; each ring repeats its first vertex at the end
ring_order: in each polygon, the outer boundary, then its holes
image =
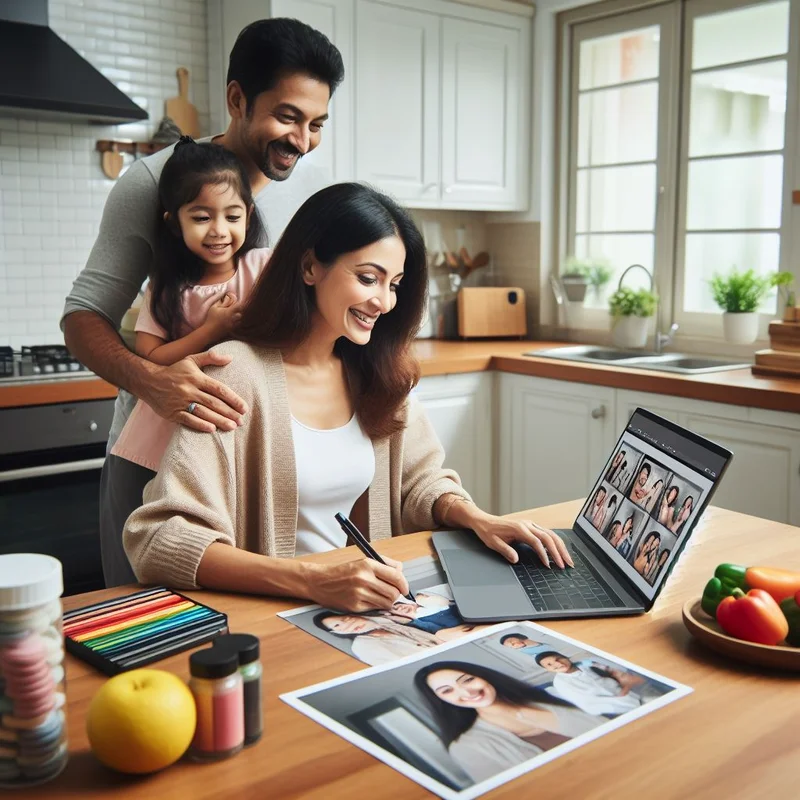
POLYGON ((163 586, 64 614, 67 650, 106 675, 152 664, 227 630, 225 614, 163 586))

